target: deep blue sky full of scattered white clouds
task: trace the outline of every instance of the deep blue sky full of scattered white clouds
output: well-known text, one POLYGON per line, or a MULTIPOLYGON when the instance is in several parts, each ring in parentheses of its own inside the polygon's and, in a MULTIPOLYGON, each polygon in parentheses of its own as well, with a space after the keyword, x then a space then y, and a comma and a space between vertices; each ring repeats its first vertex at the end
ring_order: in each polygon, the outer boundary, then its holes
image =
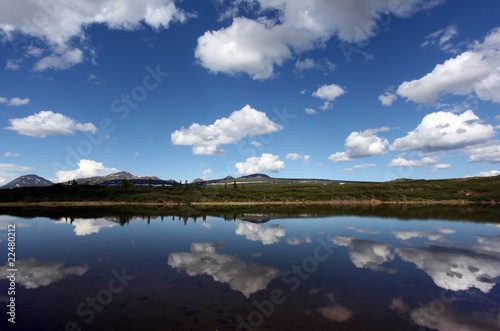
POLYGON ((500 174, 500 4, 0 4, 0 185, 500 174))

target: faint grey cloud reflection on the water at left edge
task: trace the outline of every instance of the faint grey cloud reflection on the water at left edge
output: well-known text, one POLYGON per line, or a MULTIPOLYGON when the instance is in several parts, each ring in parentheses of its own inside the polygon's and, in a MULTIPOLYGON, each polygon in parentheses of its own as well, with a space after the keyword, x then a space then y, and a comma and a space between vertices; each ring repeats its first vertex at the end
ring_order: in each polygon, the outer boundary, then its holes
MULTIPOLYGON (((16 283, 27 289, 35 289, 48 286, 67 276, 81 276, 89 270, 87 265, 64 267, 64 262, 36 261, 35 259, 24 259, 16 261, 16 283)), ((9 272, 8 265, 0 270, 0 277, 5 279, 9 272)))

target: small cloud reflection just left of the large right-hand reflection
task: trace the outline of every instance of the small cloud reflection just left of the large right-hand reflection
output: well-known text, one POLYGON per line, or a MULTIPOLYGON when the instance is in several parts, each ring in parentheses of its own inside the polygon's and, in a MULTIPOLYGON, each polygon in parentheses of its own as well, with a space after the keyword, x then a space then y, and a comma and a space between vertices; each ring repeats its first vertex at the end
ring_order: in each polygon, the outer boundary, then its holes
POLYGON ((349 247, 349 258, 357 268, 383 271, 382 264, 394 259, 391 246, 386 243, 350 236, 335 236, 330 240, 336 245, 349 247))

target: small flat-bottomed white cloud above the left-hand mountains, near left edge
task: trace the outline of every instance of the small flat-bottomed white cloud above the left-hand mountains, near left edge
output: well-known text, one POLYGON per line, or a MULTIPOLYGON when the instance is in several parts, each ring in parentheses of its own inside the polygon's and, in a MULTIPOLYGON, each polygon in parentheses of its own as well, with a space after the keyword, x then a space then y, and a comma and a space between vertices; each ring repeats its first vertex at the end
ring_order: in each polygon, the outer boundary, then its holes
POLYGON ((17 131, 18 134, 45 138, 47 135, 72 135, 75 131, 90 131, 94 133, 97 127, 92 123, 78 123, 74 119, 52 111, 41 111, 24 118, 9 119, 7 130, 17 131))

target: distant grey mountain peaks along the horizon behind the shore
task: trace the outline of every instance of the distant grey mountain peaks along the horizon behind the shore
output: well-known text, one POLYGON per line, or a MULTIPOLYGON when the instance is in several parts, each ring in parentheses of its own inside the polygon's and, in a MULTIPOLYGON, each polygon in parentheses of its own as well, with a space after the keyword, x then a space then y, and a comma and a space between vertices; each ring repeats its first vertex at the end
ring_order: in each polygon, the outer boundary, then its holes
MULTIPOLYGON (((75 182, 81 185, 105 185, 105 186, 120 186, 122 180, 126 179, 130 184, 134 186, 178 186, 179 181, 173 179, 164 180, 156 176, 135 176, 126 171, 115 172, 106 176, 95 176, 87 178, 76 179, 75 182)), ((211 179, 204 180, 197 178, 190 182, 190 185, 201 185, 203 183, 207 185, 224 185, 232 184, 236 182, 237 184, 292 184, 292 183, 316 183, 316 184, 342 184, 345 181, 338 180, 327 180, 327 179, 291 179, 291 178, 272 178, 265 174, 252 174, 248 176, 242 176, 234 178, 232 176, 227 176, 222 179, 211 179)), ((67 184, 71 184, 69 182, 67 184)), ((16 188, 16 187, 29 187, 29 186, 49 186, 54 183, 48 179, 37 175, 25 175, 14 179, 13 181, 7 183, 6 185, 0 187, 2 189, 16 188)), ((66 184, 66 183, 64 183, 66 184)))

